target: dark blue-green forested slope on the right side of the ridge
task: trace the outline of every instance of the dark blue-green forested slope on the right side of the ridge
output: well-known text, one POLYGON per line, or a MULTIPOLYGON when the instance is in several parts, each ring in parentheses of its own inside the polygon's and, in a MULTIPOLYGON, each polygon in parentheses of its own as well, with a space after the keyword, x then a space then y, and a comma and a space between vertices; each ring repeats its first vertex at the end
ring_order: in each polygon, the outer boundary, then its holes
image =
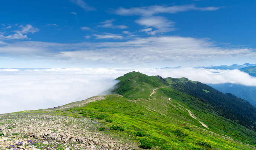
POLYGON ((237 98, 230 93, 223 94, 200 82, 195 84, 187 80, 172 83, 174 83, 172 84, 173 88, 210 104, 211 107, 214 107, 212 111, 217 115, 236 121, 238 124, 256 131, 256 108, 248 101, 237 98))

